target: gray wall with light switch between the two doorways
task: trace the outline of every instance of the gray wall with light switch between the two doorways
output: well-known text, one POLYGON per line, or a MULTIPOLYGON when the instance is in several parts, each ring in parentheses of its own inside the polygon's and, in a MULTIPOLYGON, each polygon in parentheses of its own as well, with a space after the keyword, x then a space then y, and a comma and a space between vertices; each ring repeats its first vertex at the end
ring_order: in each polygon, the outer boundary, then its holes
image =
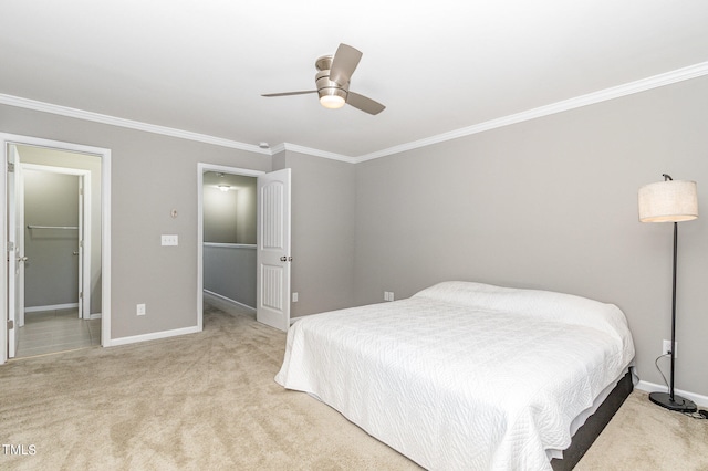
POLYGON ((195 326, 197 164, 269 171, 271 157, 4 105, 0 129, 112 150, 112 337, 195 326))

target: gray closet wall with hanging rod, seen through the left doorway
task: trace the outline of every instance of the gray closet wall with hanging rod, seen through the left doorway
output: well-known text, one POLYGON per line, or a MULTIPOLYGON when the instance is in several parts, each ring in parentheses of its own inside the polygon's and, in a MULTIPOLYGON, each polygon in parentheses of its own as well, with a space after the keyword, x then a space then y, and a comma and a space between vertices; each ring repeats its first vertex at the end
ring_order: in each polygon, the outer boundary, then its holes
POLYGON ((24 170, 24 306, 79 302, 79 177, 24 170))

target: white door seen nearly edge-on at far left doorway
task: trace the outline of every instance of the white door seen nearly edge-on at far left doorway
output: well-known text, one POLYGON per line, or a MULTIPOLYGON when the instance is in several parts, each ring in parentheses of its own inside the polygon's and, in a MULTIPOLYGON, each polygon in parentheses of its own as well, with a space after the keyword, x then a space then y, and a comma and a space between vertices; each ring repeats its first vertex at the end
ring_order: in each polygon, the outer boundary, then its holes
POLYGON ((8 358, 14 358, 18 331, 24 324, 24 231, 20 156, 14 145, 8 146, 8 358), (18 205, 20 202, 20 205, 18 205))

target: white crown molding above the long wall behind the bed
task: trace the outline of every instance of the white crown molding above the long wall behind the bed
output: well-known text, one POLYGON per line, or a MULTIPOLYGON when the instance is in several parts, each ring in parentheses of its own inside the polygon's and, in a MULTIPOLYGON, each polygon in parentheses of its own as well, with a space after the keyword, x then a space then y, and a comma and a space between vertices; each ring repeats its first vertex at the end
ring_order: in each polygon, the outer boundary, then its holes
POLYGON ((697 78, 704 75, 708 75, 708 62, 701 62, 699 64, 690 65, 688 67, 678 69, 676 71, 654 75, 648 78, 642 78, 624 85, 601 90, 598 92, 589 93, 585 95, 564 100, 562 102, 556 102, 550 105, 540 106, 538 108, 528 109, 525 112, 517 113, 513 115, 503 116, 497 119, 491 119, 485 123, 476 124, 473 126, 468 126, 460 129, 451 130, 449 133, 426 137, 425 139, 414 140, 410 143, 398 145, 398 146, 388 147, 386 149, 382 149, 375 153, 360 156, 356 158, 356 163, 372 160, 375 158, 385 157, 393 154, 399 154, 406 150, 413 150, 420 147, 444 143, 446 140, 452 140, 459 137, 470 136, 472 134, 479 134, 486 130, 496 129, 499 127, 509 126, 517 123, 522 123, 524 121, 531 121, 539 117, 580 108, 583 106, 594 105, 596 103, 620 98, 622 96, 627 96, 635 93, 646 92, 652 88, 658 88, 660 86, 670 85, 673 83, 684 82, 691 78, 697 78))

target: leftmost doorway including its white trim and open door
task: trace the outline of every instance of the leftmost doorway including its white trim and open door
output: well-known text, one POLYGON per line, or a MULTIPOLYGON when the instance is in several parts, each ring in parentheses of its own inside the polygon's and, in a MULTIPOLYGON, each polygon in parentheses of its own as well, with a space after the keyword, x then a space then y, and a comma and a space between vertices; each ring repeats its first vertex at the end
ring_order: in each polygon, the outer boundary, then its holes
MULTIPOLYGON (((25 342, 25 346, 28 346, 27 338, 32 335, 28 337, 27 334, 30 334, 33 328, 38 328, 38 323, 34 321, 43 321, 41 324, 45 329, 50 325, 46 323, 48 321, 59 323, 49 327, 49 332, 54 334, 54 339, 46 338, 46 335, 43 337, 45 343, 52 342, 63 346, 42 346, 37 343, 39 341, 32 341, 34 342, 33 350, 25 350, 29 352, 28 355, 74 349, 79 346, 106 345, 110 339, 110 293, 105 286, 108 286, 110 282, 108 187, 111 151, 103 148, 9 134, 0 134, 0 145, 3 160, 17 159, 14 168, 3 166, 3 178, 0 179, 4 187, 0 191, 4 209, 2 226, 3 232, 8 234, 4 245, 11 255, 17 255, 3 260, 2 281, 8 294, 8 304, 2 306, 2 317, 8 323, 8 329, 1 329, 4 332, 0 338, 6 348, 1 350, 0 364, 17 355, 18 344, 21 345, 22 342, 25 342), (20 178, 17 178, 13 170, 19 171, 20 178), (76 202, 73 211, 77 213, 76 223, 66 220, 63 222, 53 221, 46 211, 41 220, 24 221, 24 208, 21 205, 20 207, 15 205, 18 188, 14 187, 19 181, 20 189, 24 190, 22 175, 25 172, 34 175, 34 177, 43 177, 40 178, 43 184, 40 185, 38 191, 33 192, 31 201, 38 198, 41 201, 42 195, 44 198, 53 198, 50 196, 49 187, 42 187, 42 185, 48 185, 46 177, 61 177, 69 181, 70 186, 75 185, 76 202), (12 190, 14 190, 13 195, 11 195, 12 190), (11 238, 12 228, 20 230, 17 231, 15 237, 11 238), (39 285, 35 283, 37 280, 30 281, 29 285, 25 285, 24 275, 29 265, 34 263, 34 268, 39 268, 41 265, 40 259, 46 258, 46 252, 42 252, 45 248, 40 247, 40 251, 37 251, 39 245, 30 250, 31 253, 34 253, 32 257, 34 260, 28 257, 24 250, 25 241, 23 239, 25 237, 30 245, 35 242, 40 245, 43 243, 53 247, 73 245, 73 250, 69 252, 65 247, 60 251, 64 262, 58 263, 54 260, 54 263, 49 265, 53 269, 59 268, 63 272, 64 278, 70 281, 70 285, 73 285, 69 289, 72 291, 69 295, 73 297, 66 297, 65 286, 61 286, 65 280, 60 282, 54 279, 51 281, 46 278, 50 274, 46 270, 41 270, 41 273, 40 270, 35 270, 32 273, 33 275, 40 273, 39 285), (69 263, 65 263, 66 259, 70 261, 69 263), (69 265, 76 265, 76 269, 69 270, 66 269, 69 265), (38 289, 38 286, 40 287, 38 289), (38 292, 41 293, 39 297, 35 296, 38 292), (62 294, 59 294, 59 297, 48 297, 48 293, 62 294), (66 321, 73 323, 74 326, 60 327, 66 321), (88 338, 87 345, 86 341, 82 341, 83 345, 79 345, 75 338, 70 338, 79 334, 77 326, 84 329, 84 334, 88 338), (56 338, 58 331, 66 333, 64 338, 61 338, 61 335, 56 338), (42 352, 40 347, 44 347, 46 352, 42 352)), ((24 192, 19 198, 20 201, 23 200, 23 196, 24 192)), ((50 268, 49 271, 51 270, 50 268)), ((24 356, 22 353, 21 355, 24 356)))

